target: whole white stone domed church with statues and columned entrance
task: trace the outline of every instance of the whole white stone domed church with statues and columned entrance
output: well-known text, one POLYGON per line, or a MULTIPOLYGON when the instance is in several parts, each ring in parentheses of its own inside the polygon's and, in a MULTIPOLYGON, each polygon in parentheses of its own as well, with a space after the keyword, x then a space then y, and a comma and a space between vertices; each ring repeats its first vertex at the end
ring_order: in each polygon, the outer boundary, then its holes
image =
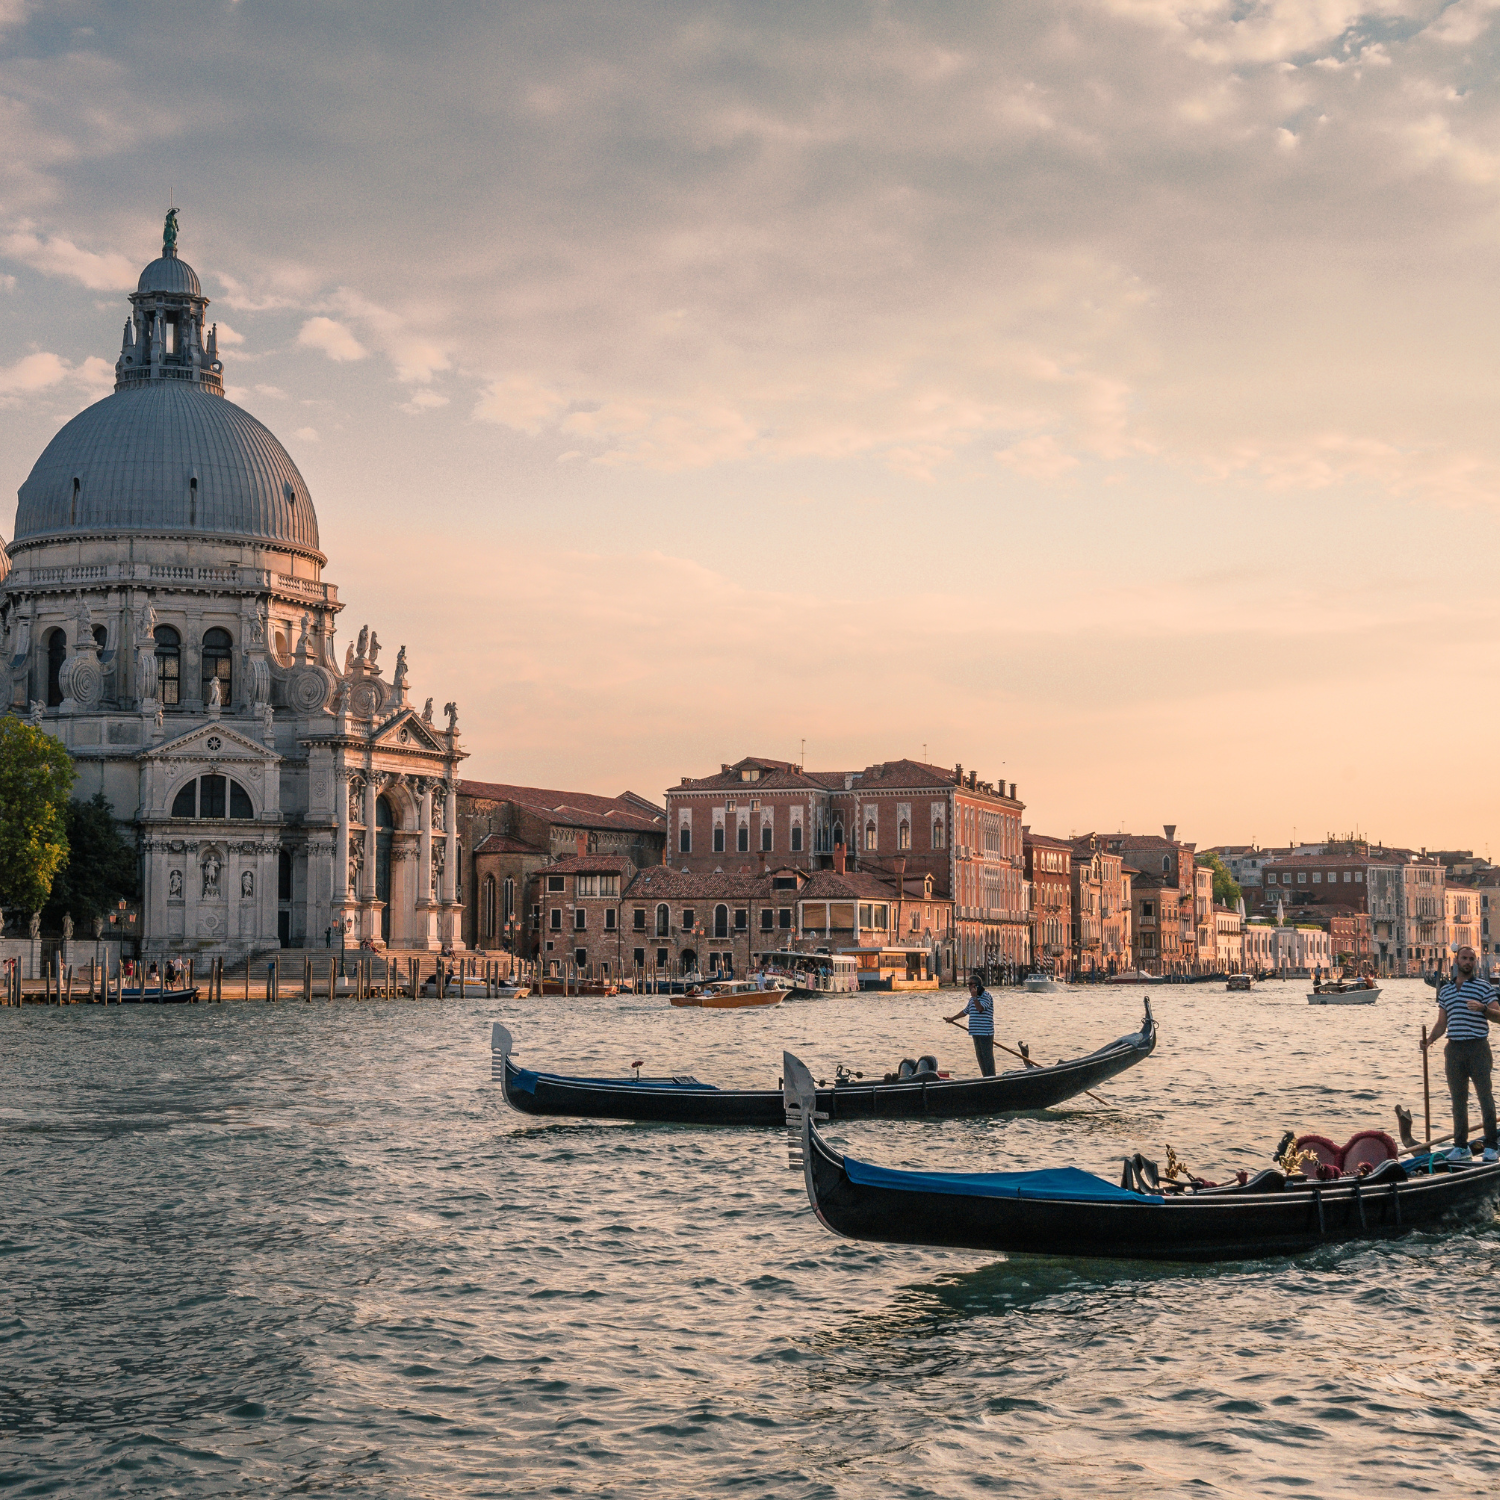
POLYGON ((114 393, 52 438, 0 561, 10 712, 69 750, 141 855, 142 956, 460 946, 458 711, 412 708, 405 648, 339 660, 312 495, 224 394, 177 254, 130 294, 114 393))

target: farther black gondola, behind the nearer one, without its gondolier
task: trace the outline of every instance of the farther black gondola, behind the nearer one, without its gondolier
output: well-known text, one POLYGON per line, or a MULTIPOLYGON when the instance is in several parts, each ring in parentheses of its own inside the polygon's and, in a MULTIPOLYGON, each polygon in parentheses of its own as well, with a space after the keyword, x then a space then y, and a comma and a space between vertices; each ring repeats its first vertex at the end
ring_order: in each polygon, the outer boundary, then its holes
MULTIPOLYGON (((1086 1058, 1052 1068, 1000 1072, 993 1078, 939 1078, 916 1074, 898 1083, 840 1082, 818 1089, 818 1108, 831 1119, 962 1119, 1017 1110, 1046 1110, 1076 1098, 1149 1058, 1156 1046, 1150 1002, 1138 1032, 1120 1036, 1086 1058)), ((666 1125, 782 1125, 784 1090, 720 1089, 696 1078, 573 1078, 518 1068, 510 1032, 490 1032, 492 1076, 507 1102, 526 1114, 652 1120, 666 1125)))

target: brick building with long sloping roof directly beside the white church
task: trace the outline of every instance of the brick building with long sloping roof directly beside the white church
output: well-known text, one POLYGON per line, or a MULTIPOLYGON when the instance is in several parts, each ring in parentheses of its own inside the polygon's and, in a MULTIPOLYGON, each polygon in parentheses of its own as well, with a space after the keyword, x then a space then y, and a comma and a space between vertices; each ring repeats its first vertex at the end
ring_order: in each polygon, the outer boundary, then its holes
MULTIPOLYGON (((660 864, 666 813, 622 792, 594 796, 540 786, 459 782, 459 850, 464 858, 464 940, 471 948, 544 954, 542 872, 561 860, 602 855, 632 872, 660 864)), ((558 950, 561 951, 561 950, 558 950)))

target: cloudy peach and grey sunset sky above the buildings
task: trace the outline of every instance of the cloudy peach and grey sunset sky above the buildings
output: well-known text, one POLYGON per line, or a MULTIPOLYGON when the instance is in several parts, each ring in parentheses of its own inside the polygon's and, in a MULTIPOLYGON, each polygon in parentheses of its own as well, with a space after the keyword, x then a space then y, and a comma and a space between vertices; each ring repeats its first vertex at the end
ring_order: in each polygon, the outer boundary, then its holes
POLYGON ((1482 852, 1497 54, 1496 0, 0 0, 0 489, 176 194, 470 774, 806 741, 1482 852))

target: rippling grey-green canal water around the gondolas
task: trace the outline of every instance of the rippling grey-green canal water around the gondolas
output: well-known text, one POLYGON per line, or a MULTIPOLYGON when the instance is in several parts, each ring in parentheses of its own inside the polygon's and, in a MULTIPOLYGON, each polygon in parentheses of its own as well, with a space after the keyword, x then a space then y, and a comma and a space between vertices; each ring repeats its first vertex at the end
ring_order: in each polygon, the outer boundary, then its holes
MULTIPOLYGON (((1431 992, 1154 990, 1156 1056, 1046 1116, 834 1126, 934 1168, 1420 1125, 1431 992)), ((1412 1496, 1500 1474, 1500 1234, 1144 1268, 858 1245, 783 1131, 536 1122, 520 1060, 774 1084, 934 1052, 962 998, 0 1011, 6 1496, 1412 1496)), ((1140 992, 999 994, 1052 1062, 1140 992)), ((1437 1070, 1438 1110, 1444 1092, 1437 1070)), ((1442 1128, 1448 1128, 1446 1122, 1442 1128)))

